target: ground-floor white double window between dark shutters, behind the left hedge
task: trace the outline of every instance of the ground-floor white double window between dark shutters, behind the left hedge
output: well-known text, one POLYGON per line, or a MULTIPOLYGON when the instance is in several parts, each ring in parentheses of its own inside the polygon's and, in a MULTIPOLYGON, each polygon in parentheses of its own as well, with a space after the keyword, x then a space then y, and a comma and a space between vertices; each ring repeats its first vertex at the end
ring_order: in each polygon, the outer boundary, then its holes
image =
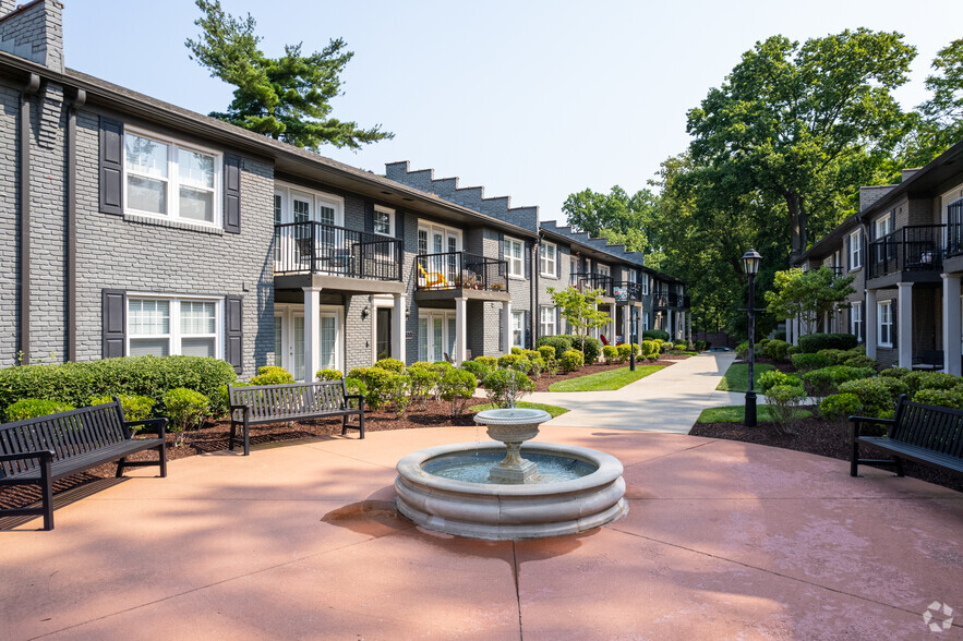
POLYGON ((128 353, 132 356, 221 358, 221 301, 128 297, 128 353))

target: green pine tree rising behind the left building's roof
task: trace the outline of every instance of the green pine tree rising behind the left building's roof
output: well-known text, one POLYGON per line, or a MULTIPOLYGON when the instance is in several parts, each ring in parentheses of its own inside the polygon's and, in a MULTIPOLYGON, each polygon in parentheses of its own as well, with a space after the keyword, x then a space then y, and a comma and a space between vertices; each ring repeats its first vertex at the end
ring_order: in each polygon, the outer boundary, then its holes
POLYGON ((310 56, 301 53, 301 44, 286 45, 284 56, 268 58, 258 48, 251 14, 234 19, 220 0, 196 4, 203 15, 194 24, 202 33, 185 41, 191 58, 237 87, 228 110, 210 113, 213 118, 312 152, 325 144, 357 149, 394 137, 381 125, 359 129, 356 122, 330 117, 330 99, 341 93, 340 73, 354 56, 344 40, 333 39, 310 56))

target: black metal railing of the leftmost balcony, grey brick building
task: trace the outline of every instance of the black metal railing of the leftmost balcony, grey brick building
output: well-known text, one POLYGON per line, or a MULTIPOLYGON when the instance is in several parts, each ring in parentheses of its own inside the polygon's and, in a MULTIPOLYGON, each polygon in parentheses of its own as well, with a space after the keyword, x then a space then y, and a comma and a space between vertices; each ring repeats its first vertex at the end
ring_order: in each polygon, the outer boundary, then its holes
POLYGON ((401 241, 323 222, 274 227, 274 273, 401 280, 401 241))

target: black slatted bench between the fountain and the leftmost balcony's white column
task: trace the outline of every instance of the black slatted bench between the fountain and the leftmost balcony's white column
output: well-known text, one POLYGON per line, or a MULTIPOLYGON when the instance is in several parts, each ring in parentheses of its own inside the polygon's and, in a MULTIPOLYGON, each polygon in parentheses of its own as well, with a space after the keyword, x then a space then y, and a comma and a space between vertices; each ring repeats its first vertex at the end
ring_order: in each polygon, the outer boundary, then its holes
POLYGON ((244 446, 244 456, 251 453, 251 425, 286 423, 305 419, 341 416, 341 434, 358 430, 364 438, 364 397, 348 394, 345 379, 288 385, 228 386, 231 411, 231 450, 234 444, 244 446), (349 400, 358 400, 352 408, 349 400), (348 423, 348 416, 358 416, 358 424, 348 423), (238 428, 243 436, 237 435, 238 428))

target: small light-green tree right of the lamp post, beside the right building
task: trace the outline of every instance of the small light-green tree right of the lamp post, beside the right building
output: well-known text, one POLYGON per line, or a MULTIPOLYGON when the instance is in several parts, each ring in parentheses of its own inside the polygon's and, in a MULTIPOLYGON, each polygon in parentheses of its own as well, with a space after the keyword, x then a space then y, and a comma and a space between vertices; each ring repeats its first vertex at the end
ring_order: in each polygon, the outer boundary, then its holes
POLYGON ((836 276, 826 266, 809 271, 777 271, 774 291, 766 292, 767 311, 780 320, 798 318, 806 332, 811 334, 823 314, 856 292, 852 285, 852 276, 836 276))

